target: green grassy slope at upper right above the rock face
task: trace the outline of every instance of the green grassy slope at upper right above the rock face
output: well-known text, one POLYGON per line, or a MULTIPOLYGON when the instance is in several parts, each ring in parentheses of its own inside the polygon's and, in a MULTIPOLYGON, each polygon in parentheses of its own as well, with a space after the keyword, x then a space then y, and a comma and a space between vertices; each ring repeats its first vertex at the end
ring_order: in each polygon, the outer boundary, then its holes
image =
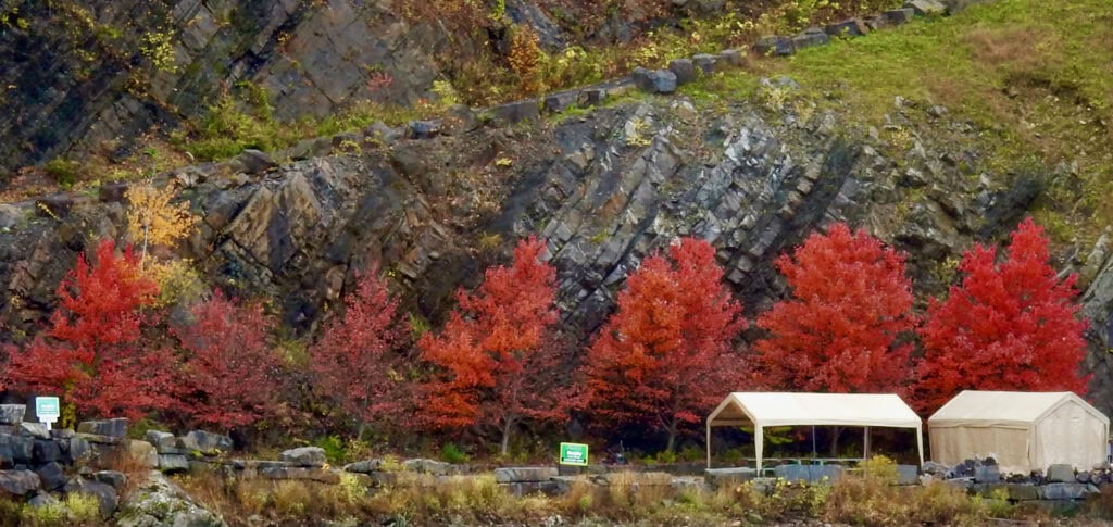
POLYGON ((758 77, 787 74, 820 105, 837 103, 851 121, 878 128, 896 96, 943 105, 982 130, 978 147, 988 156, 979 170, 1076 163, 1050 181, 1038 203, 1040 219, 1060 241, 1089 241, 1113 225, 1106 202, 1113 193, 1109 0, 998 0, 789 60, 765 60, 756 70, 713 78, 689 92, 749 95, 758 77))

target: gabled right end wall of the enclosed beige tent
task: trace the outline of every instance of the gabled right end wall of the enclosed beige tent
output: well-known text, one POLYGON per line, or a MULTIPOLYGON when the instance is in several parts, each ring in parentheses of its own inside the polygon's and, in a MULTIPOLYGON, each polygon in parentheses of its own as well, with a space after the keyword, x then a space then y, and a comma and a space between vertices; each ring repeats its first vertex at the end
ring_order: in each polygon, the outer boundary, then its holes
POLYGON ((1105 435, 1101 419, 1067 400, 1036 424, 1033 468, 1067 464, 1087 470, 1105 460, 1105 435))

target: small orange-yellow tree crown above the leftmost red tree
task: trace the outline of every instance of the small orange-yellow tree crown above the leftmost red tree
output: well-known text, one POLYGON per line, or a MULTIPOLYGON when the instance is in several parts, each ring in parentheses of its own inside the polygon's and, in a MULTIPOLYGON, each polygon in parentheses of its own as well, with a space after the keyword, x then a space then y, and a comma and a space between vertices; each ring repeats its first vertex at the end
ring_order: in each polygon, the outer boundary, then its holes
POLYGON ((142 243, 142 258, 147 246, 174 247, 188 238, 200 218, 189 210, 188 202, 174 203, 177 191, 174 185, 155 188, 150 182, 131 187, 125 193, 128 209, 128 235, 142 243))

